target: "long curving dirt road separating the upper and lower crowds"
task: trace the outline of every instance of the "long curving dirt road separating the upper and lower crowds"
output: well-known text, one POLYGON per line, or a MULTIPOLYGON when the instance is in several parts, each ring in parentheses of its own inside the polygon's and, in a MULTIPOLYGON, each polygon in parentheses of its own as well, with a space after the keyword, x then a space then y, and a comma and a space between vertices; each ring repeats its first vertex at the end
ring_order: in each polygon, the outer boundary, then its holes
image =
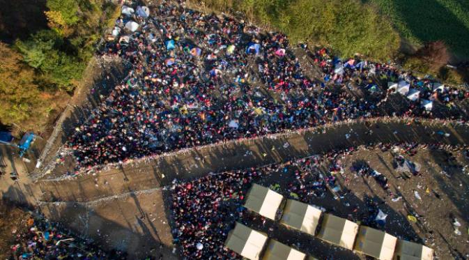
MULTIPOLYGON (((412 127, 399 122, 372 125, 345 123, 335 128, 291 132, 277 135, 275 138, 261 137, 219 146, 193 148, 70 180, 43 179, 38 181, 37 185, 43 191, 43 201, 93 201, 129 190, 146 190, 169 185, 174 178, 198 178, 210 172, 259 167, 370 142, 469 144, 469 128, 427 123, 415 124, 412 127), (365 132, 369 130, 373 132, 366 135, 365 132), (438 131, 450 135, 431 135, 431 132, 438 131), (350 137, 347 139, 346 135, 350 137)), ((57 169, 60 170, 63 169, 57 169)))

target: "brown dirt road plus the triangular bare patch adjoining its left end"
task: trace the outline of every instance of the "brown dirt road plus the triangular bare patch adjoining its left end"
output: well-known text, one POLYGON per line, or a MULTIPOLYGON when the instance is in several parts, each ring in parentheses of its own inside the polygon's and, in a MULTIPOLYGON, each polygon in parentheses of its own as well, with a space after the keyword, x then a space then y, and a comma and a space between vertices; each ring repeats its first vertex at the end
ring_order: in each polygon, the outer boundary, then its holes
MULTIPOLYGON (((414 123, 412 127, 404 121, 342 123, 331 128, 192 148, 105 169, 95 176, 1 183, 0 188, 3 197, 38 206, 49 219, 67 223, 72 230, 109 248, 121 248, 136 257, 164 252, 171 259, 175 254, 171 252, 169 215, 164 206, 167 196, 161 188, 170 185, 174 178, 199 178, 210 172, 259 167, 370 142, 406 141, 469 144, 469 128, 435 122, 414 123), (373 132, 366 135, 369 130, 373 132), (438 131, 450 135, 431 134, 438 131), (346 135, 350 137, 347 139, 346 135)), ((63 174, 60 167, 56 171, 57 176, 63 174)))

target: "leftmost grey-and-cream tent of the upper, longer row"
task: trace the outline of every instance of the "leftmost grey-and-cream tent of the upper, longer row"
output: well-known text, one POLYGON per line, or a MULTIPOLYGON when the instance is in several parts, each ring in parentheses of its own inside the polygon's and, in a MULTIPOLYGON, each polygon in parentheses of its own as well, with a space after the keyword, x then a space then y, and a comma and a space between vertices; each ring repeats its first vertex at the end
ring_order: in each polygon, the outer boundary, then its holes
POLYGON ((283 198, 281 194, 254 183, 247 194, 245 207, 264 217, 275 220, 275 214, 283 198))

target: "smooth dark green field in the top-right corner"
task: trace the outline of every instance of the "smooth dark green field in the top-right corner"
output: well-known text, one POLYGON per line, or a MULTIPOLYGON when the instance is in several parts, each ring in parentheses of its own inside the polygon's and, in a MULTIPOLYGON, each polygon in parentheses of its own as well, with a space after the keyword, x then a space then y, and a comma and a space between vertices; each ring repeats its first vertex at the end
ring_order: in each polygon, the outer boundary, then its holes
POLYGON ((461 59, 469 59, 468 0, 364 0, 376 4, 410 43, 443 40, 461 59))

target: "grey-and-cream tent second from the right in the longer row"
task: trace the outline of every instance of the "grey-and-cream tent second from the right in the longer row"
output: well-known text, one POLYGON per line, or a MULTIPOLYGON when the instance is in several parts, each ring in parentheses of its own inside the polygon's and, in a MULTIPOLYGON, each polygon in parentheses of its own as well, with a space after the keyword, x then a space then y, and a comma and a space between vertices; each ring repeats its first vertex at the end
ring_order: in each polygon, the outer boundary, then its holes
POLYGON ((391 260, 397 238, 384 231, 360 226, 354 250, 381 260, 391 260))

